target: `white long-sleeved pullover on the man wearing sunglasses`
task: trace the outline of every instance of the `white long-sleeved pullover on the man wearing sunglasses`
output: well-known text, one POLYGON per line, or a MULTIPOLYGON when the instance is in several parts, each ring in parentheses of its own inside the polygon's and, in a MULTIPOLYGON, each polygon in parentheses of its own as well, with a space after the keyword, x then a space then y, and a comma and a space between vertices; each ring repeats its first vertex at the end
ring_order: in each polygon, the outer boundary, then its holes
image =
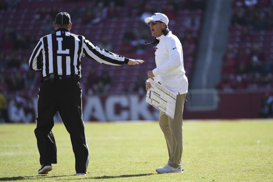
POLYGON ((188 78, 183 66, 181 42, 171 31, 158 37, 159 44, 155 47, 156 68, 153 69, 154 80, 178 95, 188 92, 188 78))

